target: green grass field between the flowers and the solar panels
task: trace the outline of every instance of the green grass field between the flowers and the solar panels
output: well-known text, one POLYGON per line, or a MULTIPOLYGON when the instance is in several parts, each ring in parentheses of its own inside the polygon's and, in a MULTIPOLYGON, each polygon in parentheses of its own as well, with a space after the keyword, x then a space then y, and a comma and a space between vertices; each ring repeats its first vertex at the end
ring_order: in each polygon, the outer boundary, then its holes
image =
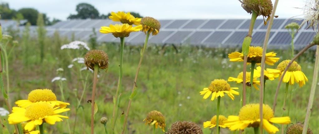
MULTIPOLYGON (((34 89, 48 88, 56 93, 58 99, 61 99, 61 92, 58 82, 51 82, 56 76, 65 77, 63 81, 63 90, 66 102, 69 102, 71 111, 68 112, 70 117, 70 130, 76 134, 90 133, 90 111, 91 104, 87 100, 91 99, 93 73, 90 71, 76 70, 76 67, 85 67, 84 64, 75 64, 69 69, 67 66, 72 64, 71 60, 76 57, 84 57, 85 50, 60 50, 62 44, 69 43, 63 37, 55 35, 52 38, 46 38, 45 57, 40 62, 40 50, 37 40, 31 38, 19 39, 19 44, 14 46, 10 41, 7 45, 7 51, 12 48, 9 55, 9 79, 10 79, 10 101, 13 106, 14 101, 26 99, 28 93, 34 89), (63 68, 62 74, 58 74, 56 69, 63 68), (84 94, 81 105, 83 110, 79 109, 76 115, 77 98, 79 99, 83 91, 84 79, 87 76, 87 90, 84 94), (77 117, 77 119, 76 119, 77 117)), ((4 41, 3 44, 7 42, 4 41)), ((109 56, 109 69, 105 73, 100 71, 96 103, 98 112, 95 115, 95 132, 104 133, 104 127, 100 124, 100 117, 108 117, 108 129, 110 130, 110 119, 113 111, 113 95, 115 94, 118 80, 119 65, 119 44, 98 44, 97 49, 104 50, 109 56)), ((120 113, 126 111, 128 99, 131 93, 133 80, 139 60, 139 52, 141 47, 126 45, 124 49, 123 64, 123 94, 122 103, 120 105, 120 113)), ((133 100, 129 120, 128 134, 148 134, 152 132, 152 127, 144 125, 143 119, 149 111, 157 110, 163 113, 166 118, 167 128, 178 120, 193 121, 203 127, 203 122, 211 119, 215 115, 217 102, 203 99, 199 94, 204 87, 207 87, 214 79, 227 79, 228 77, 237 77, 242 71, 242 62, 230 62, 227 54, 233 51, 240 51, 239 48, 202 48, 190 47, 187 44, 174 47, 168 45, 164 49, 161 46, 150 44, 146 51, 145 59, 137 80, 137 95, 133 100)), ((269 50, 271 51, 271 50, 269 50)), ((279 62, 290 57, 290 51, 273 50, 280 57, 279 62)), ((305 86, 291 86, 289 90, 293 90, 292 103, 290 104, 290 117, 292 123, 303 122, 305 118, 306 108, 308 105, 308 97, 310 83, 312 82, 314 68, 314 52, 307 52, 298 59, 298 63, 302 67, 302 71, 306 74, 309 81, 305 86)), ((274 66, 266 66, 268 68, 276 68, 274 66)), ((6 78, 4 77, 6 87, 6 78)), ((241 84, 229 82, 232 87, 239 87, 242 91, 241 84)), ((272 107, 275 90, 278 79, 267 81, 266 83, 266 104, 272 107)), ((275 116, 282 115, 282 104, 284 96, 284 84, 279 91, 278 105, 275 116)), ((319 95, 316 92, 316 96, 319 95)), ((289 97, 288 97, 289 98, 289 97)), ((259 102, 259 91, 252 90, 251 102, 259 102)), ((5 107, 3 97, 0 97, 0 107, 5 107)), ((225 116, 238 115, 240 106, 240 96, 235 96, 232 101, 229 97, 221 99, 220 113, 225 116)), ((318 98, 315 98, 313 111, 309 127, 314 131, 319 131, 319 108, 318 98)), ((7 119, 8 117, 1 117, 7 119)), ((67 120, 67 119, 66 119, 67 120)), ((116 133, 122 130, 120 117, 116 124, 116 133)), ((67 122, 63 121, 54 126, 47 125, 48 133, 68 133, 67 122)), ((281 126, 277 125, 278 128, 281 126)), ((12 133, 14 128, 9 125, 9 131, 12 133)), ((166 130, 167 130, 166 128, 166 130)), ((0 129, 0 133, 2 129, 0 129)), ((203 129, 205 134, 210 134, 211 130, 203 129)), ((225 134, 230 131, 222 130, 225 134)), ((253 129, 247 129, 248 133, 253 133, 253 129)), ((160 129, 156 133, 163 133, 160 129)))

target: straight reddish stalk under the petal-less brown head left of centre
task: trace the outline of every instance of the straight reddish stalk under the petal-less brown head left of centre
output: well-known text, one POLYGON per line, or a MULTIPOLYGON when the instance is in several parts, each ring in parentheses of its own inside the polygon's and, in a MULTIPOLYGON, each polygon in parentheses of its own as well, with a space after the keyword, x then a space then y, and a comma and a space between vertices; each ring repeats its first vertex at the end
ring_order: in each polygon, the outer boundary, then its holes
POLYGON ((94 99, 96 83, 98 81, 99 64, 94 65, 94 78, 93 78, 93 90, 92 90, 92 107, 91 107, 91 134, 94 134, 94 99))

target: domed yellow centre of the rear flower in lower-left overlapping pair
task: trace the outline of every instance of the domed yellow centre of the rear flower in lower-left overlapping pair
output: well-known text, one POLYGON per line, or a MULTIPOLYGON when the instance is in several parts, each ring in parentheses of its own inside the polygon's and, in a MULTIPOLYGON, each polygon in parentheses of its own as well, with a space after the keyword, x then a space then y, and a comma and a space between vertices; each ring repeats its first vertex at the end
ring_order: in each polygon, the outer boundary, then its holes
POLYGON ((56 101, 56 95, 49 89, 36 89, 29 93, 28 100, 31 102, 56 101))

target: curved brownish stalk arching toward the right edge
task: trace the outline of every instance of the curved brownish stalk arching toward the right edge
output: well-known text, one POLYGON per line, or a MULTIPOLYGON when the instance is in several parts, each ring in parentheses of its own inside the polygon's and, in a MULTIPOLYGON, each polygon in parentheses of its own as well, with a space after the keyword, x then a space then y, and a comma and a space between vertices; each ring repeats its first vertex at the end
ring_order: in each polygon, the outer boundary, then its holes
MULTIPOLYGON (((280 85, 282 83, 282 80, 286 74, 286 71, 288 70, 288 68, 291 66, 291 64, 293 64, 293 61, 295 61, 300 55, 302 55, 306 50, 308 50, 309 48, 311 48, 312 46, 314 46, 316 44, 314 44, 313 42, 311 42, 309 45, 307 45, 305 48, 303 48, 295 57, 293 57, 293 59, 289 62, 289 64, 287 65, 286 69, 282 72, 277 89, 276 89, 276 93, 275 93, 275 98, 274 98, 274 103, 272 105, 272 110, 275 113, 275 109, 276 109, 276 105, 277 105, 277 97, 278 97, 278 93, 279 93, 279 88, 280 85)), ((263 72, 263 68, 261 69, 261 72, 263 72)), ((261 84, 260 84, 261 85, 261 84)))

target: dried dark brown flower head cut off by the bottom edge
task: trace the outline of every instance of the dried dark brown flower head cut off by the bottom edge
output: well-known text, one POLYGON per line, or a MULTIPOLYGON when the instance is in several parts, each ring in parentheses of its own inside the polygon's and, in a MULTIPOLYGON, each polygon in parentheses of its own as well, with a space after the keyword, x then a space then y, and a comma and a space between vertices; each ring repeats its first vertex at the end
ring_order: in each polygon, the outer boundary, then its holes
POLYGON ((194 122, 178 121, 172 124, 165 134, 203 134, 203 131, 194 122))

